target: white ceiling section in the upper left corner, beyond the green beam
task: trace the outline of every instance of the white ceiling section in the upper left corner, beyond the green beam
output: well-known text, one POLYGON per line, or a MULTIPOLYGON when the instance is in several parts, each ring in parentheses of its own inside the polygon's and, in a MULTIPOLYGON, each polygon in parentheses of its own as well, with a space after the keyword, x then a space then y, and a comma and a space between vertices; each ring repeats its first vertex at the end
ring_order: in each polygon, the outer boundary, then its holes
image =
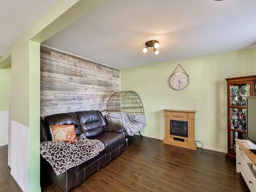
POLYGON ((0 55, 25 35, 59 0, 0 0, 0 55))

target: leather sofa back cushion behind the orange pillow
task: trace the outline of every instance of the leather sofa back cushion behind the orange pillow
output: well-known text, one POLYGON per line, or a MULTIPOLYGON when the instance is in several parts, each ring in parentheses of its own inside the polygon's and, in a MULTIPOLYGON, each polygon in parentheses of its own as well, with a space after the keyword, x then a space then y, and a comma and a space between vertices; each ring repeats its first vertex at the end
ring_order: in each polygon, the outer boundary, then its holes
POLYGON ((48 128, 50 125, 66 125, 73 124, 75 126, 76 135, 79 136, 82 131, 76 113, 60 113, 45 117, 48 128))

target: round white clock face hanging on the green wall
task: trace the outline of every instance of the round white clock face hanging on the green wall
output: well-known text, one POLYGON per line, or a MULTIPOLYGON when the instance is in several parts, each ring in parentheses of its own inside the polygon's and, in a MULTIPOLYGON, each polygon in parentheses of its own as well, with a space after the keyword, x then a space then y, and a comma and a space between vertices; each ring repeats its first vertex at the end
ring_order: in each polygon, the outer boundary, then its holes
POLYGON ((170 86, 176 90, 182 90, 188 85, 188 75, 183 72, 177 72, 170 77, 170 86))

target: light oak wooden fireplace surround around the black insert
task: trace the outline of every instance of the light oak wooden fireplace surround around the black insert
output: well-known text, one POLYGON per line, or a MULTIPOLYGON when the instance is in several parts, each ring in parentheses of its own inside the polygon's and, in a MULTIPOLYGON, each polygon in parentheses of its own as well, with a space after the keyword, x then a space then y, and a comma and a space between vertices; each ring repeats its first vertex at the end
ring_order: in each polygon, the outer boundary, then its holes
POLYGON ((191 110, 170 110, 165 109, 165 132, 163 143, 175 145, 179 147, 189 148, 190 150, 197 150, 195 144, 195 113, 197 111, 191 110), (185 121, 187 122, 187 137, 181 137, 170 134, 170 121, 185 121))

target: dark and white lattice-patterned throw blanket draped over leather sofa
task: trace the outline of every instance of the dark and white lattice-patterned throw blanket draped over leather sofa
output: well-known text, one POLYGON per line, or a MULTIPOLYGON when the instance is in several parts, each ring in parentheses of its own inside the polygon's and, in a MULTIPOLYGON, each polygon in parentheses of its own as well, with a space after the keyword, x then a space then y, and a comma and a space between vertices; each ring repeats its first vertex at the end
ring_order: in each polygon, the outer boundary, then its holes
POLYGON ((96 139, 87 139, 84 134, 78 137, 74 144, 61 141, 44 141, 40 143, 40 154, 60 175, 71 167, 77 166, 89 159, 94 158, 103 151, 105 145, 96 139))

